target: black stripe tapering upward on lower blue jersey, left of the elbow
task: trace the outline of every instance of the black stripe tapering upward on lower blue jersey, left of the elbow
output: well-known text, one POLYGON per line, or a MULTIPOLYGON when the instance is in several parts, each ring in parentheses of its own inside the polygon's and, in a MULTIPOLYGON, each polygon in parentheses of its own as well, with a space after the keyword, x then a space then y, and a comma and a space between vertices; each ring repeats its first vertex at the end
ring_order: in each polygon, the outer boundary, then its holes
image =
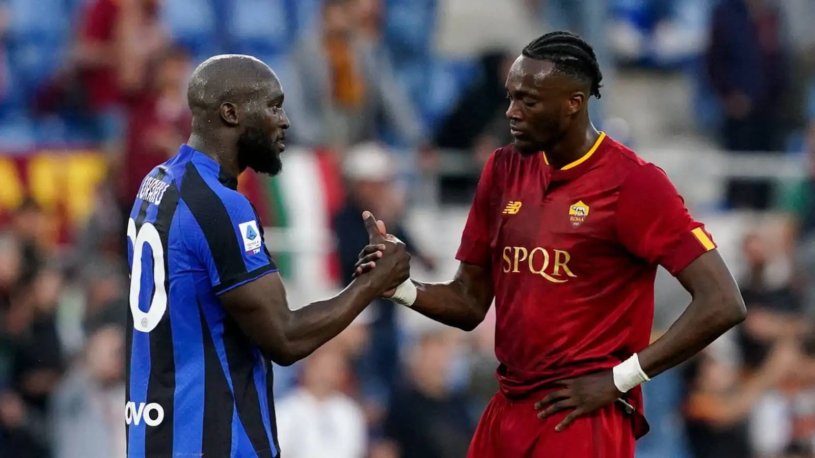
POLYGON ((201 453, 204 456, 229 456, 235 403, 200 302, 198 313, 204 344, 204 430, 201 453))

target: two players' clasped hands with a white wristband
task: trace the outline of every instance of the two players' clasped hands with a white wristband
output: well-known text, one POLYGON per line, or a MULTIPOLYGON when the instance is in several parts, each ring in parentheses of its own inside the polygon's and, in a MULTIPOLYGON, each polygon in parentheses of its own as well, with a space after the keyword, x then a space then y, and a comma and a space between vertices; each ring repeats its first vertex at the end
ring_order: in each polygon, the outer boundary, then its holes
POLYGON ((380 297, 410 306, 416 299, 416 287, 410 280, 410 254, 402 240, 386 233, 385 222, 371 212, 362 214, 368 231, 368 246, 359 253, 354 278, 380 297))

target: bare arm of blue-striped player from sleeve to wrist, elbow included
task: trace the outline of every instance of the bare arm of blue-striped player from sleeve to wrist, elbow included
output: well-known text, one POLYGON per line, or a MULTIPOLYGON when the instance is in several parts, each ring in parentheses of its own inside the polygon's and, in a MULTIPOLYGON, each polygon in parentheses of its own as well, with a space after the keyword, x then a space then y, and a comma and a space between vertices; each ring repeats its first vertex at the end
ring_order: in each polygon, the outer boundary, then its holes
POLYGON ((367 276, 337 296, 289 309, 280 275, 263 275, 222 293, 221 303, 241 329, 272 361, 289 366, 336 337, 377 297, 367 276))

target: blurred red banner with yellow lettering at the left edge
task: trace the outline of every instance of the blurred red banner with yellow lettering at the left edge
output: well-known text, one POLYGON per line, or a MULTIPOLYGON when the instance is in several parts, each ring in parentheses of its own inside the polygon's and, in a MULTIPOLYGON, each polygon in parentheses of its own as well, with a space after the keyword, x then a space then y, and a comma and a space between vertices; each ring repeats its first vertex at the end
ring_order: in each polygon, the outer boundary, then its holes
POLYGON ((67 242, 93 211, 106 170, 103 154, 92 150, 0 153, 0 215, 7 219, 32 197, 53 218, 55 241, 67 242))

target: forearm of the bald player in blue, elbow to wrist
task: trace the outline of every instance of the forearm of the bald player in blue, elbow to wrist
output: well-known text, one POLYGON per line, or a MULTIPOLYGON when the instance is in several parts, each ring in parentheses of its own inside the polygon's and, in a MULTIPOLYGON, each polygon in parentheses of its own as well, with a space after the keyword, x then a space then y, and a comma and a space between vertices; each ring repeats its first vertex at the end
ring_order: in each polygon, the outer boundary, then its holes
POLYGON ((284 328, 286 351, 280 363, 291 364, 311 355, 337 337, 376 298, 376 293, 355 280, 334 297, 292 310, 284 328))

